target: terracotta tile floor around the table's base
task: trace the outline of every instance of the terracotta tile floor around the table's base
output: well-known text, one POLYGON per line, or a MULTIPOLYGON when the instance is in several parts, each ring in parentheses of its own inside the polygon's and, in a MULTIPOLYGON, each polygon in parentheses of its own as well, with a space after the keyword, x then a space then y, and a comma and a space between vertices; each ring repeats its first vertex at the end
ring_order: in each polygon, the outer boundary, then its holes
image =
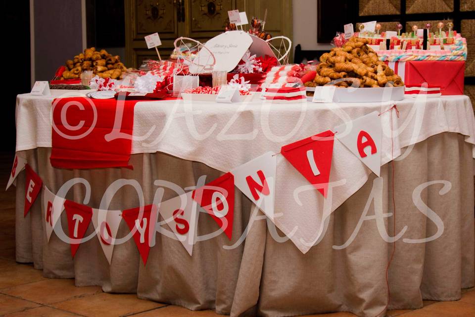
MULTIPOLYGON (((75 287, 72 279, 48 279, 30 264, 15 262, 15 188, 3 191, 12 156, 0 154, 0 316, 5 317, 216 317, 214 311, 185 308, 140 300, 136 295, 106 294, 100 287, 75 287)), ((456 302, 424 301, 418 310, 389 311, 387 316, 474 317, 475 289, 463 290, 456 302)), ((350 313, 312 315, 354 317, 350 313)))

